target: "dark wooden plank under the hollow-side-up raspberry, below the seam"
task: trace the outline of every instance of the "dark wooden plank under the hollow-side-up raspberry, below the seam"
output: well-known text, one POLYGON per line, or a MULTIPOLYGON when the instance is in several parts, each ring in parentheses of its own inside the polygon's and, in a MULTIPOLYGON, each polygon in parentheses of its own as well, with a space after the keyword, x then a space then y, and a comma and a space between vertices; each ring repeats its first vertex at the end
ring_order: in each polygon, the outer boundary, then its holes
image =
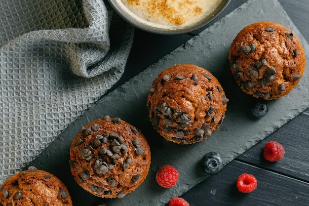
POLYGON ((221 173, 208 177, 181 197, 190 206, 308 206, 308 194, 307 182, 234 160, 221 173), (241 193, 236 188, 242 173, 257 178, 253 192, 241 193))

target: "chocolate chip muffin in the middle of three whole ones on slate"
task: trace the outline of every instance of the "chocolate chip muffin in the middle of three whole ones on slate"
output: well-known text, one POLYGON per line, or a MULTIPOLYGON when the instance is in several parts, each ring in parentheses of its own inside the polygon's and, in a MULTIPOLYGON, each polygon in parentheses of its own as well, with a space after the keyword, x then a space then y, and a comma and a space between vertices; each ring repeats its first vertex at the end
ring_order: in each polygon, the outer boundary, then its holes
POLYGON ((174 143, 193 144, 219 128, 228 101, 210 72, 181 64, 158 74, 151 85, 147 107, 150 121, 161 136, 174 143))

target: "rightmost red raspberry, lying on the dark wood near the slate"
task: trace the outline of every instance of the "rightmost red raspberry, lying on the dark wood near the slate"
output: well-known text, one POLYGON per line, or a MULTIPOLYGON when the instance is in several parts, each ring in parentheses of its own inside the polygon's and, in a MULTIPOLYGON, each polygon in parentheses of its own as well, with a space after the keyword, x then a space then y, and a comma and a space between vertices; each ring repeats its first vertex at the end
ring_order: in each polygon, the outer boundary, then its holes
POLYGON ((264 158, 270 162, 281 160, 284 153, 283 146, 276 141, 270 141, 264 146, 264 158))

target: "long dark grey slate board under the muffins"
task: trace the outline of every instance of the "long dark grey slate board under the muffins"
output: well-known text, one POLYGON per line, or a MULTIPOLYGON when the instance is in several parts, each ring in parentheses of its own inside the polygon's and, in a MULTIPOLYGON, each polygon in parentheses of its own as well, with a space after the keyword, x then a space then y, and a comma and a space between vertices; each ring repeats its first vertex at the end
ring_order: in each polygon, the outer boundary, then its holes
POLYGON ((227 57, 237 33, 243 27, 262 20, 275 21, 290 28, 302 41, 308 60, 309 45, 280 3, 277 0, 249 0, 144 72, 101 98, 70 124, 31 165, 62 179, 69 189, 74 206, 92 206, 100 202, 108 206, 164 206, 171 198, 188 191, 208 176, 200 167, 200 159, 205 153, 218 152, 229 163, 309 108, 307 65, 305 74, 296 88, 288 95, 268 103, 269 113, 266 117, 251 117, 250 103, 253 98, 243 93, 234 82, 227 57), (186 63, 203 67, 216 76, 230 102, 223 124, 210 138, 194 145, 177 145, 164 140, 152 128, 146 99, 149 88, 159 72, 174 64, 186 63), (119 117, 140 128, 151 146, 152 165, 149 175, 139 188, 123 199, 100 199, 85 192, 75 183, 70 171, 69 148, 75 134, 81 125, 104 115, 119 117), (155 172, 166 164, 174 165, 180 175, 177 184, 169 189, 159 187, 155 181, 155 172))

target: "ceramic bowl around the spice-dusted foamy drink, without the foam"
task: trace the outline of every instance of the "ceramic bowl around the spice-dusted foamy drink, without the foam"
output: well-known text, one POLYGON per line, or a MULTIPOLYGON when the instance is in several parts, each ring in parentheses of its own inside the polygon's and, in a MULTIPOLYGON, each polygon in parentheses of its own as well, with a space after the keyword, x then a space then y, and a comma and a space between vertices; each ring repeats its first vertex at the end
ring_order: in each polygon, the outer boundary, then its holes
POLYGON ((152 23, 145 18, 141 18, 132 10, 130 10, 124 3, 124 0, 109 0, 112 7, 116 12, 127 22, 139 28, 141 30, 156 33, 156 34, 165 34, 165 35, 176 35, 176 34, 185 34, 192 32, 194 30, 200 29, 201 27, 209 24, 213 21, 220 13, 227 7, 231 0, 222 0, 217 7, 213 9, 211 13, 204 15, 204 17, 198 21, 185 26, 175 26, 175 25, 163 25, 159 23, 152 23))

